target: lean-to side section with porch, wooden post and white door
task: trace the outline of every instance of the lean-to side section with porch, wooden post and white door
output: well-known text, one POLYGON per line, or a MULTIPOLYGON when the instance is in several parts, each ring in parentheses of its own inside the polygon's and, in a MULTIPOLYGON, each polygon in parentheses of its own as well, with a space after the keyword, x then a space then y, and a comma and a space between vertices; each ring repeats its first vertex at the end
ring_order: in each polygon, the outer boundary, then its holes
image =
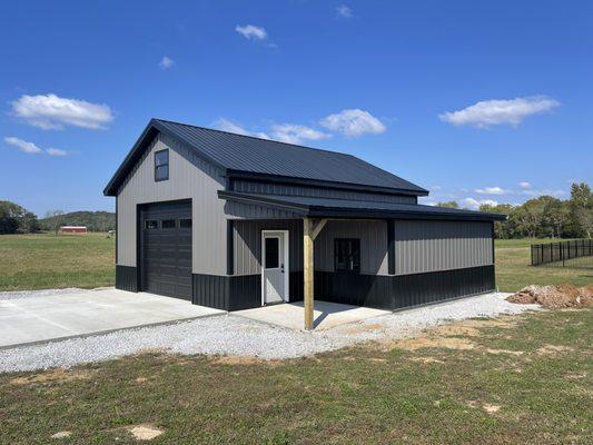
POLYGON ((234 191, 219 197, 229 218, 230 310, 303 301, 303 326, 312 329, 316 301, 395 310, 495 287, 488 214, 234 191))

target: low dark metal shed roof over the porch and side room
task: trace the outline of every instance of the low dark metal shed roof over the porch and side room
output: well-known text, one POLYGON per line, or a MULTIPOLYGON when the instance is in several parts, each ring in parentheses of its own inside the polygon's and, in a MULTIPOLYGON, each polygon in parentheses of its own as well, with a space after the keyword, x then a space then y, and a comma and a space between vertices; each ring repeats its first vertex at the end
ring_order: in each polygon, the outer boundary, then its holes
POLYGON ((424 206, 419 204, 359 201, 307 196, 257 195, 227 190, 219 190, 218 197, 227 201, 289 210, 303 216, 303 218, 393 218, 471 221, 494 221, 506 219, 506 215, 502 214, 424 206))

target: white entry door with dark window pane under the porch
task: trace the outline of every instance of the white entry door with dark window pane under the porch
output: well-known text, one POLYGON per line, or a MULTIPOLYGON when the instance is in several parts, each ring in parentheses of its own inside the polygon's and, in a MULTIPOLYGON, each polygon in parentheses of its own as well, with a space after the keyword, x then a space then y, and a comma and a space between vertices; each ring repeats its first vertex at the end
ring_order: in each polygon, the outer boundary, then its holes
POLYGON ((261 304, 288 301, 288 230, 261 233, 261 304))

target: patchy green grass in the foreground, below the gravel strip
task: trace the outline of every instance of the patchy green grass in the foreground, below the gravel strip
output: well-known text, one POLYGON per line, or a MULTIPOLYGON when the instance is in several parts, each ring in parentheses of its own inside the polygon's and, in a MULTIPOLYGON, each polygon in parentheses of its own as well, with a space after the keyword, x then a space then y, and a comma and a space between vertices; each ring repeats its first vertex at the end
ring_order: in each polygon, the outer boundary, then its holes
POLYGON ((421 349, 250 364, 144 354, 0 375, 0 443, 134 444, 127 428, 148 424, 164 432, 152 444, 590 444, 592 315, 463 322, 421 349))

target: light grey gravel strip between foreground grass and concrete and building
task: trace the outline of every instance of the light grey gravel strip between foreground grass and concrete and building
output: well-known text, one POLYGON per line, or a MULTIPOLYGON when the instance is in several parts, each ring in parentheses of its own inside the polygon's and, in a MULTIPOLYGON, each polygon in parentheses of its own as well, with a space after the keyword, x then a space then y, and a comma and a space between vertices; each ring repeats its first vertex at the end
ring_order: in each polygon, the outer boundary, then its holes
POLYGON ((0 373, 65 367, 112 359, 147 349, 174 354, 283 359, 308 356, 369 340, 409 337, 428 327, 476 317, 537 309, 515 305, 510 294, 487 294, 369 318, 320 332, 297 332, 234 315, 0 350, 0 373))

